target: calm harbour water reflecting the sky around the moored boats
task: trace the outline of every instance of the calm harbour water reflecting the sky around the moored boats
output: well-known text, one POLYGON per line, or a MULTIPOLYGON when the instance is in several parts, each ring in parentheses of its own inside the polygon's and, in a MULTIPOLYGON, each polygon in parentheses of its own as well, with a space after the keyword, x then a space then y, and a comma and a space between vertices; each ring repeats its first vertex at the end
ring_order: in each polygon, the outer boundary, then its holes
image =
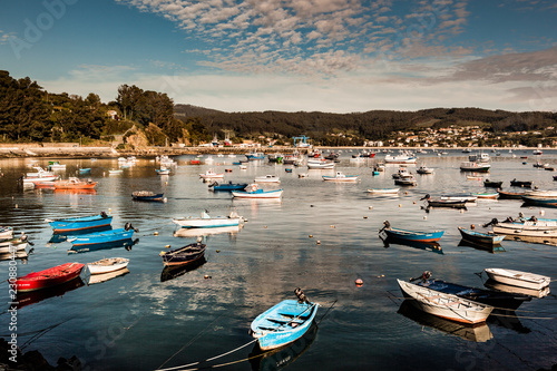
MULTIPOLYGON (((19 261, 18 274, 74 261, 130 260, 129 273, 114 280, 87 284, 84 274, 84 285, 65 287, 67 291, 51 297, 28 299, 29 304, 18 311, 19 345, 23 351, 39 350, 51 364, 75 354, 90 370, 189 364, 248 343, 251 321, 278 301, 294 299, 293 290, 300 286, 321 303, 319 326, 307 336, 263 359, 245 361, 254 355, 251 344, 202 365, 229 363, 226 369, 231 370, 537 370, 556 364, 555 282, 549 296, 525 303, 516 316, 490 318, 487 326, 470 330, 401 309, 395 279, 408 280, 429 270, 439 279, 482 286, 475 273, 490 266, 557 277, 555 246, 505 241, 505 252, 491 254, 459 246, 457 231, 459 225, 480 225, 519 212, 557 217, 557 209, 525 208, 518 201, 479 201, 463 213, 439 208, 426 213, 419 201, 424 194, 485 191, 481 182, 467 180, 466 173, 460 173, 465 154, 419 155, 418 164, 426 163, 436 173, 417 175, 419 185, 399 197, 365 192, 393 187, 391 174, 397 167, 372 176, 371 160, 355 164, 349 159, 351 154, 342 154, 336 169, 360 175, 358 184, 321 179, 333 170, 294 168, 286 174, 284 168, 292 166, 267 162, 251 163, 241 170, 231 165, 236 159, 227 157, 214 157, 211 166, 187 165, 189 157, 178 157, 179 166, 170 176, 156 175, 156 165, 149 159, 139 159, 121 175, 110 176, 108 169, 117 167, 116 160, 60 159, 67 164, 60 173, 63 176, 75 175, 78 166, 92 167, 88 177, 98 182, 96 194, 23 191, 16 179, 30 170, 30 159, 0 160, 0 225, 25 231, 35 242, 27 264, 19 261), (208 191, 198 174, 209 167, 217 172, 233 168, 225 180, 234 182, 275 174, 285 189, 283 199, 233 201, 228 193, 208 191), (299 178, 299 173, 310 175, 299 178), (133 202, 131 192, 143 189, 164 191, 168 202, 133 202), (158 253, 165 246, 178 247, 196 240, 195 235, 175 237, 173 217, 199 215, 203 209, 225 215, 231 208, 248 222, 240 232, 205 236, 205 264, 190 272, 163 272, 158 253), (137 244, 130 250, 68 254, 70 243, 49 242, 52 233, 45 218, 101 211, 114 216, 114 227, 133 223, 139 230, 134 236, 139 238, 137 244), (442 254, 395 244, 385 248, 378 237, 385 219, 394 227, 444 230, 442 254), (355 286, 356 279, 363 280, 363 286, 355 286)), ((515 154, 516 158, 509 153, 499 157, 491 154, 488 177, 505 180, 506 188, 514 178, 535 180, 543 189, 555 188, 553 175, 557 173, 534 168, 531 152, 515 154), (522 165, 525 159, 519 156, 528 156, 528 164, 522 165)), ((543 162, 556 164, 557 153, 546 152, 543 162)), ((40 164, 45 166, 47 160, 40 164)), ((0 291, 6 302, 8 266, 8 261, 0 262, 0 291)), ((7 338, 9 316, 4 312, 0 319, 0 335, 7 338)))

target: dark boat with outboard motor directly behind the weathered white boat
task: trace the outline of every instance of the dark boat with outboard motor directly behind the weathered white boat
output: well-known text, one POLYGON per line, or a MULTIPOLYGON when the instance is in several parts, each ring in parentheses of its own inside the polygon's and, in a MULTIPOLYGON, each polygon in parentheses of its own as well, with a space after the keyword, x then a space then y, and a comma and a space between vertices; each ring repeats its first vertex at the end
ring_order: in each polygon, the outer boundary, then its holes
POLYGON ((431 279, 431 272, 429 271, 423 272, 420 277, 411 281, 416 280, 421 280, 417 283, 419 286, 439 291, 444 294, 457 295, 459 297, 471 300, 477 303, 491 305, 497 307, 498 310, 515 311, 524 302, 528 302, 531 300, 530 296, 524 294, 502 293, 431 279))

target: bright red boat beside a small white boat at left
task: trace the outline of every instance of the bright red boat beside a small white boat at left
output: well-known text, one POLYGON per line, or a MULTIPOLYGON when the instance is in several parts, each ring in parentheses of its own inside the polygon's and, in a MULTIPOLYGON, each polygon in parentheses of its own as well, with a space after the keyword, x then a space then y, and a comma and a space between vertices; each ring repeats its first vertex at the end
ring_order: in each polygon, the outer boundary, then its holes
POLYGON ((85 264, 81 263, 66 263, 45 271, 32 272, 28 275, 18 277, 16 285, 18 287, 18 292, 28 292, 56 286, 79 276, 85 264))

